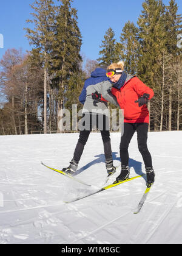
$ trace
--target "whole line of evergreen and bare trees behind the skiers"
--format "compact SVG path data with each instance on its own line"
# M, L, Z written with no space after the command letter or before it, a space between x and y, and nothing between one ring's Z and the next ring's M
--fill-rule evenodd
M98 65L124 60L125 71L155 91L148 103L150 130L181 130L181 15L175 0L144 0L137 24L128 21L120 41L109 27L98 60L83 67L82 37L72 0L35 0L26 36L32 51L8 49L0 61L0 134L62 132L62 110L79 104L84 80ZM178 46L177 46L178 45ZM112 108L112 105L110 105Z

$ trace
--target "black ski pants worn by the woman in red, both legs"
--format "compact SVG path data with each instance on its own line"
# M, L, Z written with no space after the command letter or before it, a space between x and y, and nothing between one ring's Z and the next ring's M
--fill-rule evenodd
M124 123L124 133L120 143L121 165L129 164L129 143L135 131L137 132L138 149L143 157L145 167L152 167L152 157L147 148L147 133L149 124L147 123Z

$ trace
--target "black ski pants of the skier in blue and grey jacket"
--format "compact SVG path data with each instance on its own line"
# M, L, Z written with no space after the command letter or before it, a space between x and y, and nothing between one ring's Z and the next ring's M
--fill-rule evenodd
M73 159L76 162L79 162L81 155L83 154L84 146L87 143L87 140L89 138L90 132L94 127L99 129L99 127L102 127L99 129L101 132L101 137L103 140L104 145L104 155L107 161L112 159L112 149L110 144L110 132L109 132L109 119L106 115L100 115L100 114L93 114L93 113L87 113L84 114L89 115L89 124L87 124L87 129L83 129L79 132L79 139L78 143L76 144L75 152L73 155ZM94 116L93 116L94 115ZM99 123L101 122L101 123ZM86 124L84 124L86 126Z

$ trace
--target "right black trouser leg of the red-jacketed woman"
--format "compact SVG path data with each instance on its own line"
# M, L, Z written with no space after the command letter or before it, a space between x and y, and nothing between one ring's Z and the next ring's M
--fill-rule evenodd
M147 148L148 128L149 124L147 123L136 124L138 149L143 157L145 167L152 168L152 157L150 155L149 149Z

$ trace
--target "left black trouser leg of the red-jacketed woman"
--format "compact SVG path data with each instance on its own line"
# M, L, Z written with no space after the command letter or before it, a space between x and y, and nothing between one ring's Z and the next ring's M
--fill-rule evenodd
M120 143L120 158L121 158L121 166L127 166L129 163L129 143L135 133L135 126L130 123L124 123L124 133L121 137Z

